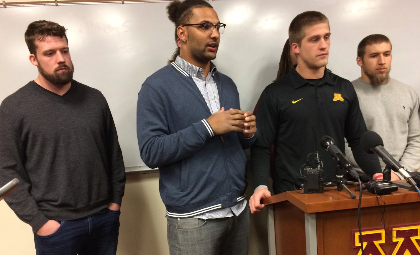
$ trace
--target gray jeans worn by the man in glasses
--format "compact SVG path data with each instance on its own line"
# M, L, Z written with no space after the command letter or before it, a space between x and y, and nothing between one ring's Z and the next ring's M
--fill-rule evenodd
M230 218L166 218L171 255L248 254L248 207L239 216Z

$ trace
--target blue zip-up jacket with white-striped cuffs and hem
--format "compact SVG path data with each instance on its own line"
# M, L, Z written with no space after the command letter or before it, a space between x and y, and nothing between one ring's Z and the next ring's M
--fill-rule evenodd
M215 71L220 106L239 109L236 85ZM144 81L137 101L140 155L159 168L159 191L168 216L186 218L235 205L245 198L243 149L256 138L240 132L215 135L211 112L197 85L176 63Z

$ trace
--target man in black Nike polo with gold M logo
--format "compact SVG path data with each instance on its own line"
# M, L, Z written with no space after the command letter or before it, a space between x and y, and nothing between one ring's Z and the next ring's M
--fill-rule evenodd
M331 136L342 151L346 137L362 170L370 176L381 173L378 157L363 152L360 147L360 137L367 129L352 84L325 68L330 34L328 18L316 11L299 14L289 26L289 41L297 66L268 85L259 100L260 136L251 148L255 187L249 200L252 213L261 211L264 205L260 200L271 195L267 185L273 144L276 194L302 184L299 170L313 160L315 155L309 154L317 150L323 161L324 181L334 179L336 161L320 147L324 135Z

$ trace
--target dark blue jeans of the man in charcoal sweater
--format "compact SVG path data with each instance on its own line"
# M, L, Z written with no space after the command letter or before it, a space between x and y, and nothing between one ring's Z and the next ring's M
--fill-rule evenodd
M53 234L34 233L37 255L115 255L120 211L101 210L91 216L61 221Z

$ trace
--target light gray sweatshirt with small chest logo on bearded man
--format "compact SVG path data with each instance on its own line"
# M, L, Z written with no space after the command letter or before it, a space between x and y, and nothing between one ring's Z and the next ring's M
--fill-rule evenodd
M419 97L408 85L389 79L372 86L360 78L352 81L367 129L378 133L383 147L409 171L420 168ZM346 156L359 168L346 146ZM385 163L380 160L382 168Z

